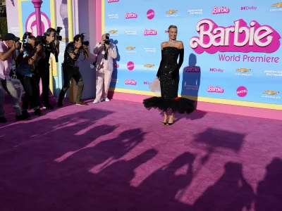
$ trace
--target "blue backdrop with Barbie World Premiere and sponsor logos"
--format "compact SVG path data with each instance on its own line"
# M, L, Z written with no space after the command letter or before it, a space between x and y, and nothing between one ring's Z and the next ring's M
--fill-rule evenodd
M282 105L282 2L105 0L104 7L104 31L118 48L112 88L149 91L161 42L177 25L185 46L179 94Z

